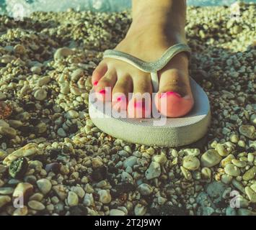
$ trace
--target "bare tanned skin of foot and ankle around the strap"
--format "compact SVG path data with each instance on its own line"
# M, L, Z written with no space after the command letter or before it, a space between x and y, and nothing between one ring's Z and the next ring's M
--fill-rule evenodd
M127 35L115 50L153 62L170 46L186 43L185 1L133 0L132 17ZM159 92L150 103L136 97L138 93L152 93L150 74L121 60L102 60L92 74L92 84L102 100L106 100L106 87L110 87L113 108L126 109L129 117L150 115L151 103L165 116L180 117L187 114L194 103L188 63L187 54L181 52L158 72ZM131 100L128 93L133 93Z

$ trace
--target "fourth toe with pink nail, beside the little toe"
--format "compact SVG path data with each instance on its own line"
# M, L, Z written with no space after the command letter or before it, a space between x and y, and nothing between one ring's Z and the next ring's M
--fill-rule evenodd
M100 78L97 86L94 86L97 97L102 101L111 101L112 88L115 86L117 75L115 69L107 70L107 73Z

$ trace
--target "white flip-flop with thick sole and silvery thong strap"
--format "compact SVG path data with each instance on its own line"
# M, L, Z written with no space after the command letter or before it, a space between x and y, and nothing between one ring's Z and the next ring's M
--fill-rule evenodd
M187 52L190 55L190 47L181 43L169 47L164 55L154 63L146 63L116 50L106 50L104 57L123 60L139 70L151 73L152 85L156 93L159 89L158 71L162 70L169 60L180 52ZM93 90L89 95L89 116L103 132L126 142L160 147L179 147L191 144L206 135L211 122L211 111L208 96L203 88L193 78L190 78L190 86L195 101L193 109L186 116L167 118L166 124L162 126L156 125L160 119L115 118L106 112L105 107L97 106L95 97L92 96Z

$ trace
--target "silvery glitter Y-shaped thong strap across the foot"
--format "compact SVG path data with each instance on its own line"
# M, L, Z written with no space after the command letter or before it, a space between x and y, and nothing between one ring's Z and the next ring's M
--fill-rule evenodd
M117 50L106 50L104 52L103 57L110 57L117 60L123 60L124 62L135 66L139 70L142 70L146 73L150 73L154 93L156 93L159 91L159 78L157 72L159 70L162 70L162 68L164 68L165 65L167 65L169 61L180 52L187 52L187 54L190 55L191 50L190 47L188 47L187 45L179 43L177 45L169 47L169 49L164 52L162 57L160 57L158 60L152 63L144 62L143 60L138 59L137 57L128 55L125 52L120 52Z

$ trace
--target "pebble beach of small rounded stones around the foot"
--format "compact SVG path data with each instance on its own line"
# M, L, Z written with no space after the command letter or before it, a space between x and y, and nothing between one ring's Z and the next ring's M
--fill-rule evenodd
M0 16L0 215L256 216L256 6L239 7L188 7L190 72L212 121L176 149L123 142L89 119L90 76L130 12Z

